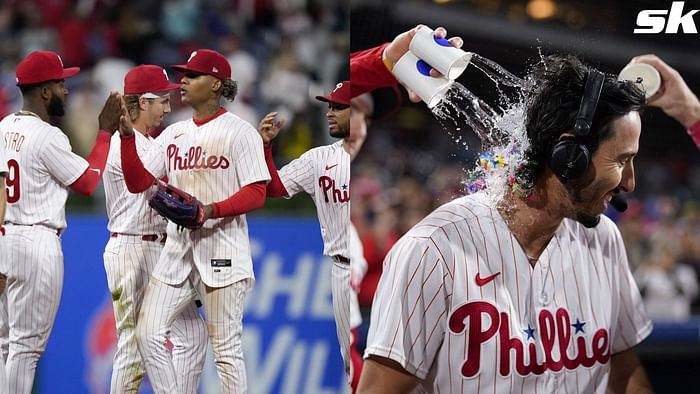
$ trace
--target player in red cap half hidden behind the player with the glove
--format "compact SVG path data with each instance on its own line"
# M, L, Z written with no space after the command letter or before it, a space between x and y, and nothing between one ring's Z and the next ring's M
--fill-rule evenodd
M148 132L170 112L170 91L175 89L180 89L180 84L171 83L166 71L155 65L137 66L124 77L124 101L139 155L158 151L158 144ZM136 345L136 322L146 285L165 243L167 221L148 206L150 190L133 194L126 189L118 135L112 137L104 187L111 234L104 264L118 336L111 392L136 393L145 375ZM196 393L208 336L194 303L173 321L170 340L177 384L182 392Z

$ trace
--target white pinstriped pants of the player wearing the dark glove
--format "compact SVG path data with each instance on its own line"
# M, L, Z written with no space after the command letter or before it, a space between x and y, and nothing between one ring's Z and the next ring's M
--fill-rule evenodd
M199 299L204 307L209 340L224 393L245 393L247 379L243 363L241 335L243 307L253 284L243 279L219 288L206 286L193 269L187 280L168 285L151 280L144 295L136 339L146 372L157 394L181 393L176 385L176 371L164 346L175 316Z

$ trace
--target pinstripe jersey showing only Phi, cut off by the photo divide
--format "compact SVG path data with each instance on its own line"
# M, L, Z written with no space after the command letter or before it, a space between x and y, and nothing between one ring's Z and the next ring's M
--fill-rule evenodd
M316 204L323 254L348 255L350 223L350 154L343 140L313 148L279 171L289 197L304 191Z

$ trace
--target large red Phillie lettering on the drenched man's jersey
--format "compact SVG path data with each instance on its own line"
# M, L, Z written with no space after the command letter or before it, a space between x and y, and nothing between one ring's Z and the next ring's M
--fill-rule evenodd
M488 319L484 319L488 317ZM508 376L511 373L511 360L515 361L515 370L521 376L541 375L545 371L574 370L579 366L591 367L596 362L605 364L610 360L608 331L598 329L591 338L575 335L584 332L586 323L576 319L571 324L569 312L559 308L554 314L543 309L539 312L538 327L523 330L528 335L527 343L520 337L510 335L508 313L500 312L488 302L474 301L466 303L452 312L449 317L449 330L453 334L463 334L468 330L467 359L462 364L461 373L465 378L472 378L481 370L481 346L496 337L498 341L499 373ZM576 332L572 338L571 328ZM534 343L535 332L538 335L544 360L537 359L537 345ZM533 341L529 339L533 338ZM573 344L575 351L569 351ZM513 358L513 352L515 353ZM556 356L558 355L558 356ZM557 357L557 358L555 358Z

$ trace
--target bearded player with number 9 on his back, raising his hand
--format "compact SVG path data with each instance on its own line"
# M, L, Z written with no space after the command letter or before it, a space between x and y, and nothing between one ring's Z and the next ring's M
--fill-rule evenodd
M10 393L32 391L36 364L56 317L63 287L60 235L66 228L68 190L92 194L119 125L120 96L112 93L85 160L71 151L68 137L48 123L49 116L63 115L65 79L79 70L64 69L55 52L30 53L16 70L22 110L0 122L9 169L0 250L0 272L7 274L7 291L0 297L0 345Z

